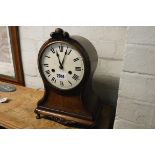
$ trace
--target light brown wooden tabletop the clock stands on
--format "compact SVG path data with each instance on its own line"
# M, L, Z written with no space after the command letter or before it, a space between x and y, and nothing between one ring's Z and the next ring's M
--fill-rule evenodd
M0 82L2 83L2 82ZM0 92L0 98L7 97L7 103L0 103L0 126L15 129L67 129L70 127L61 125L47 119L36 119L34 109L37 101L43 96L43 91L16 86L15 92ZM105 108L104 108L105 109ZM103 125L101 128L109 128L111 109L103 112Z

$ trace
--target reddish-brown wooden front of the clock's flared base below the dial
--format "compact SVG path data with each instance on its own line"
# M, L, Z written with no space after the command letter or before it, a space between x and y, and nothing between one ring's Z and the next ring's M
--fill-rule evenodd
M82 103L80 95L62 96L50 92L44 102L41 102L36 112L49 116L64 125L93 127L95 122L91 113L87 111Z

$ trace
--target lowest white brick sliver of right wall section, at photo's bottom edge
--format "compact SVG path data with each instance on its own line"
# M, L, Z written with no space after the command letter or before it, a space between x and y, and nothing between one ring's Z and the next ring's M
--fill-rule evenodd
M144 129L145 127L130 121L118 119L118 120L115 120L114 122L114 128L115 129Z

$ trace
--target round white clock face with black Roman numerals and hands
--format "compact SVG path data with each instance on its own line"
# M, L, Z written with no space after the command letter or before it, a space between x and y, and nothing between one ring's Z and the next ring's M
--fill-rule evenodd
M85 68L81 54L73 46L55 42L44 50L41 69L52 86L69 90L80 84Z

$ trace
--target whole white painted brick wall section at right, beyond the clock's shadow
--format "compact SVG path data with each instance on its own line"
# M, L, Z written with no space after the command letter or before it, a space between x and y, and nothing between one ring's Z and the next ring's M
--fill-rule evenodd
M128 27L114 128L155 128L155 27Z

